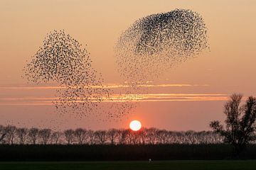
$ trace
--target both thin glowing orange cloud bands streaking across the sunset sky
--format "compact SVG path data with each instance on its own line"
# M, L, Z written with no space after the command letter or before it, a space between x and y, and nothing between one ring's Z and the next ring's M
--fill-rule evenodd
M166 87L195 87L195 86L210 86L208 84L151 84L151 82L139 85L146 88L166 88ZM78 88L77 86L71 86ZM127 84L105 84L104 86L93 86L94 88L110 88L122 89L131 86ZM48 90L48 89L65 89L65 86L0 86L0 90ZM16 92L15 92L16 93ZM82 102L82 98L67 98L70 102ZM226 101L227 94L169 94L169 93L156 93L156 94L112 94L109 97L102 97L103 102L159 102L159 101ZM53 101L58 101L58 97L53 96L22 96L22 97L0 97L0 105L53 105ZM97 98L90 98L90 101L96 101Z

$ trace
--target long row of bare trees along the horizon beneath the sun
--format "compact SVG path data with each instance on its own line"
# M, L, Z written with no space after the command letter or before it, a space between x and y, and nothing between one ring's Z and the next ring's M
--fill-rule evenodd
M5 145L167 145L218 144L224 140L213 131L184 132L142 128L86 130L77 128L54 131L48 128L16 128L0 125L0 144Z

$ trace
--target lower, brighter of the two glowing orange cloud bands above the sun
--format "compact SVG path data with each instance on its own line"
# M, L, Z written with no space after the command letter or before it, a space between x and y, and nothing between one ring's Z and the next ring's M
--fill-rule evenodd
M227 94L113 94L108 98L102 98L103 102L157 102L157 101L226 101ZM95 101L96 98L90 98ZM58 101L56 97L21 97L0 98L0 105L53 105ZM82 102L76 98L72 102Z

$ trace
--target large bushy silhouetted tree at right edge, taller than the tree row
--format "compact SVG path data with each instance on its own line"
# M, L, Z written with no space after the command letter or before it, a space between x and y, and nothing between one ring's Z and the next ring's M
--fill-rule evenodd
M234 147L234 156L238 156L247 143L255 140L256 98L250 96L244 105L240 106L242 95L233 94L225 103L225 128L220 121L210 123L210 128L220 133L225 142Z

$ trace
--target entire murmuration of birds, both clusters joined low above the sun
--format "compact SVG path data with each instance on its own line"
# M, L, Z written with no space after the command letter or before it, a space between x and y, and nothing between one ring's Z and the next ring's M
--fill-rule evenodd
M76 113L79 118L107 113L107 118L118 120L136 107L136 98L146 93L142 88L146 81L158 79L166 69L207 47L203 18L191 10L176 9L140 18L120 35L114 52L118 71L128 85L120 94L104 86L101 74L92 67L90 53L64 30L46 36L24 73L33 83L53 81L62 87L53 101L58 113ZM103 107L102 102L113 100L113 95L122 102Z

